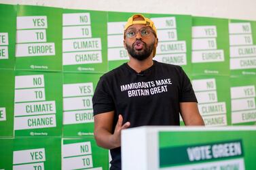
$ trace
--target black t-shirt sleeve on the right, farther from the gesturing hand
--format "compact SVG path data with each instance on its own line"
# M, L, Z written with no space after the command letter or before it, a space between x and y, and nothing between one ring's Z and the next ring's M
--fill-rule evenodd
M179 95L179 102L198 102L189 77L187 77L185 71L182 68L180 76L181 94Z

